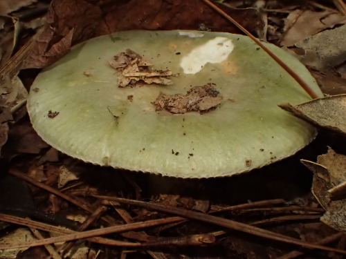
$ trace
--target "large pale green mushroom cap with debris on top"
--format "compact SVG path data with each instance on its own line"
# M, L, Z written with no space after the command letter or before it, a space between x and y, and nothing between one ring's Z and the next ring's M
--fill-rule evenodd
M322 96L298 60L266 44ZM172 84L118 87L109 60L131 49L171 70ZM161 94L212 84L208 111L156 111ZM28 97L35 131L57 150L101 166L178 178L234 175L293 155L316 136L277 104L311 98L246 36L224 32L124 31L90 39L42 71Z

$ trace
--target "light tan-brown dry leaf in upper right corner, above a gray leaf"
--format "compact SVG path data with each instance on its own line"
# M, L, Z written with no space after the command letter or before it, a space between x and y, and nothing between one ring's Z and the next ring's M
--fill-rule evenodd
M340 12L325 10L313 12L311 10L293 10L286 18L284 30L286 33L281 41L282 46L293 46L302 39L315 35L336 24L346 23L346 17Z

